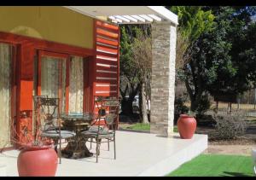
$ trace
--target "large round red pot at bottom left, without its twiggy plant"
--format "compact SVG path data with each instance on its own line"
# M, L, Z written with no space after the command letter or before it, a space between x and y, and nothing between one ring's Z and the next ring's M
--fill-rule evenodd
M54 177L58 157L49 146L28 146L20 151L17 165L20 177Z

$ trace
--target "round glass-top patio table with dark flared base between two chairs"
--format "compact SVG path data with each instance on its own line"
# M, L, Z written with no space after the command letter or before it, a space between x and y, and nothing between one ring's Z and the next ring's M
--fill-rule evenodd
M68 141L67 147L61 150L61 154L64 157L79 159L93 155L85 145L87 139L84 139L80 134L81 131L88 130L92 117L91 113L72 113L61 115L63 129L67 131L74 131L76 133L76 136L71 141Z

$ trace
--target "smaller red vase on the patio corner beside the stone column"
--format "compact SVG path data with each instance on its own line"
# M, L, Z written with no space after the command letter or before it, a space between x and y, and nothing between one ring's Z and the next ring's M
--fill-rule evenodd
M177 119L177 130L183 139L191 139L195 133L196 120L187 114L181 114Z

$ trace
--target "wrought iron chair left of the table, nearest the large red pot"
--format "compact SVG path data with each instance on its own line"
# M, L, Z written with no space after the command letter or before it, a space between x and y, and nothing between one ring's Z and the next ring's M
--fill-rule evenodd
M37 118L37 136L41 140L53 140L55 152L59 155L61 164L61 139L72 139L76 136L73 131L65 131L61 127L59 98L48 98L47 96L33 96L35 115ZM38 137L36 137L38 139ZM57 145L59 142L59 151Z

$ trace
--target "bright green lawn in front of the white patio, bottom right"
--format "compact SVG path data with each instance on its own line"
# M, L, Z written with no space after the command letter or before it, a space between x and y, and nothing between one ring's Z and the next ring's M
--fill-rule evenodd
M253 177L250 156L201 154L172 171L168 177Z

